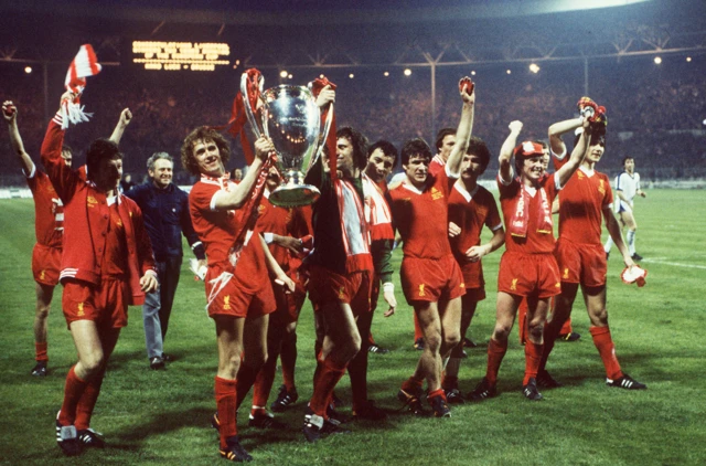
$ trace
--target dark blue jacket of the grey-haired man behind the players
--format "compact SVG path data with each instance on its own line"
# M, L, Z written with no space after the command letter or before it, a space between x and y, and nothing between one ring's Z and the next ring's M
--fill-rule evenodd
M186 236L196 258L206 258L203 245L191 224L189 194L174 183L165 189L157 188L152 181L131 188L125 193L142 210L145 227L152 241L154 260L182 256L181 234Z

